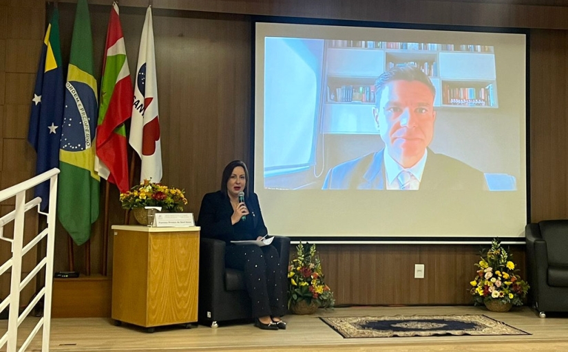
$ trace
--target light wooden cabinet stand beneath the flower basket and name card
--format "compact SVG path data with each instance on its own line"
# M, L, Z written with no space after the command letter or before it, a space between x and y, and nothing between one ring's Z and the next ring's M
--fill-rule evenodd
M113 225L112 313L154 332L197 322L199 230Z

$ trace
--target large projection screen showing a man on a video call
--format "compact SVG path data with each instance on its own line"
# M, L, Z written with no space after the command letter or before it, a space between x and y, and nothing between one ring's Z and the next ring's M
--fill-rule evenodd
M257 22L253 60L271 234L523 241L525 34Z

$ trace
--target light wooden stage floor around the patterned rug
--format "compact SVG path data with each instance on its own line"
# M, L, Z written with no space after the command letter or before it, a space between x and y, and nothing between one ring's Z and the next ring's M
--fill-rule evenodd
M485 314L532 335L345 339L317 318L397 314ZM507 313L492 313L485 307L350 307L320 309L313 316L286 316L285 320L288 329L279 331L244 324L218 329L160 327L146 333L132 325L115 327L105 318L59 318L52 319L50 351L568 351L568 315L540 319L527 307ZM26 319L19 333L30 331L36 321ZM0 333L6 326L2 320ZM41 351L41 333L28 351Z

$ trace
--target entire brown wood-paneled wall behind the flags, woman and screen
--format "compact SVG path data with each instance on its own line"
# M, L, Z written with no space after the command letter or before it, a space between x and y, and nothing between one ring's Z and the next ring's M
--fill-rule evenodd
M20 38L32 35L29 26L36 22L19 19L13 23L16 29L10 29L6 24L9 21L5 12L16 7L17 2L0 0L3 10L0 11L0 44L8 41L8 36L10 39L14 36L14 39L41 41L43 28L32 31L34 38ZM60 1L64 61L67 61L69 52L74 2ZM112 1L89 2L92 4L96 72L101 72ZM43 15L43 1L23 3L28 7L22 10L20 7L23 5L18 5L19 9L11 11L23 12L24 17ZM136 67L147 3L145 0L120 1L131 72ZM218 189L220 174L227 162L235 158L251 162L252 43L249 15L264 14L532 28L529 43L532 219L568 217L565 200L568 197L568 164L565 162L568 156L565 138L568 130L568 34L565 31L568 29L568 7L562 6L560 1L154 0L153 4L164 153L163 181L187 190L187 210L197 213L202 195ZM45 23L43 19L41 21ZM6 31L2 30L4 27ZM36 57L29 58L28 76L16 79L12 76L14 69L8 69L8 63L16 63L11 58L8 60L8 44L0 46L6 47L4 51L0 48L1 165L13 167L17 164L14 155L28 155L27 159L34 157L25 144L25 131ZM23 47L21 50L24 50ZM27 62L28 56L18 60L17 64L25 65ZM6 75L10 75L9 84ZM18 87L19 92L14 91L14 87ZM8 97L10 104L6 100ZM12 126L10 121L21 121L26 126ZM14 135L8 138L6 131ZM27 162L19 163L21 175L29 172ZM3 171L0 170L0 175L5 187L12 181L5 181ZM13 175L10 173L8 177L13 179L16 177ZM113 192L116 199L117 192ZM111 223L120 223L118 201L112 202L112 209ZM100 232L98 221L93 237L95 260L101 248ZM112 243L109 250L112 251ZM473 264L478 259L479 247L476 245L320 245L319 250L328 284L335 291L338 304L441 305L471 302L467 289L475 270ZM512 250L518 266L523 268L523 247ZM58 231L56 251L56 270L65 270L67 249L62 230ZM413 278L414 263L425 264L424 279ZM81 269L81 266L78 268ZM99 268L100 263L95 261L93 271Z

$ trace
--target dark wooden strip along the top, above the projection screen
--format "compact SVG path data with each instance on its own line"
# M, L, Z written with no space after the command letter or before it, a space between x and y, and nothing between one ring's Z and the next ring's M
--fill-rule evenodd
M76 0L61 0L74 3ZM109 5L109 0L90 0ZM562 0L153 0L156 9L255 14L313 19L483 25L514 28L568 28L568 5ZM120 5L146 7L147 0Z

